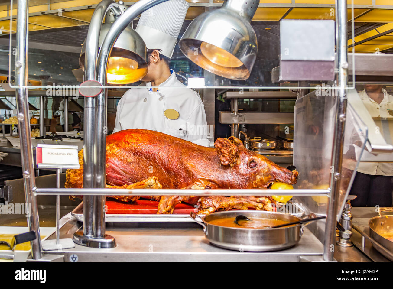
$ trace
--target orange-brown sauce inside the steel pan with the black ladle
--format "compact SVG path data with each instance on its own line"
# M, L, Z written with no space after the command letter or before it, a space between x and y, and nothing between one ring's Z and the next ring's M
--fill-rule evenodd
M235 217L230 218L222 218L215 219L209 221L211 225L223 226L223 227L231 227L231 228L266 228L270 226L277 226L285 223L289 223L287 221L277 220L277 219L269 219L269 218L260 218L260 217L250 217L250 221L240 220L235 223Z

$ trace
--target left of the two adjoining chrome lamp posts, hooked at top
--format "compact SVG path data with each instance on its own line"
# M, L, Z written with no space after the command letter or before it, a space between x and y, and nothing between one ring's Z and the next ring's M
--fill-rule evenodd
M84 58L84 80L95 80L96 75L96 64L97 64L97 53L99 45L99 35L101 32L101 25L104 20L105 14L109 9L112 9L115 15L120 15L121 10L118 5L112 0L103 0L99 2L97 7L94 9L92 19L90 20L90 25L85 41L86 52ZM96 124L96 99L92 97L84 98L84 144L83 144L83 187L84 188L97 188L95 185L95 174L94 168L96 166L95 155L97 148L94 146L95 138L95 126ZM98 199L98 201L97 201ZM94 209L95 206L100 206L99 203L104 201L103 196L86 196L83 199L83 231L82 235L80 232L74 234L74 241L81 245L87 245L89 237L103 237L105 235L105 219L104 223L101 225L102 221L99 221L101 230L95 232L94 230L94 218L102 217L96 216L94 214L98 211L103 211L103 207L100 210ZM98 203L98 204L97 204ZM104 205L103 204L103 205ZM105 217L105 215L104 215ZM103 229L102 229L103 228ZM99 242L98 242L99 243Z

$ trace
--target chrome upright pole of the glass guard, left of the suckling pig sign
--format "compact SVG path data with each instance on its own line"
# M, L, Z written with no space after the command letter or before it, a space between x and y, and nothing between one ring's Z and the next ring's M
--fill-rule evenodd
M31 212L28 213L28 226L30 231L36 234L35 240L31 241L31 257L40 259L42 248L40 241L40 226L38 219L37 199L33 194L35 188L33 150L30 138L29 102L27 91L27 51L28 51L28 1L18 1L17 15L17 54L15 58L15 78L17 83L16 99L20 138L20 157L22 159L23 182L26 203L31 204Z

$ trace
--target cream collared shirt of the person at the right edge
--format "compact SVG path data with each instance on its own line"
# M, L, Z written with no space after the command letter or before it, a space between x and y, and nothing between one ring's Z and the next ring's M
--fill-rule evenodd
M359 96L371 117L393 118L388 113L389 110L393 110L393 96L384 89L382 91L384 99L380 104L369 98L365 90L359 92ZM360 162L357 171L368 175L393 176L393 162Z

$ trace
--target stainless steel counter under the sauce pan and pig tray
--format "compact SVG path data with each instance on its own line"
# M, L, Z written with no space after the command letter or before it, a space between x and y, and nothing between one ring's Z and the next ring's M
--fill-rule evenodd
M61 238L72 237L81 223L71 218L60 230ZM117 247L94 249L75 245L73 249L50 252L64 255L70 261L77 255L78 261L285 261L298 262L308 258L320 258L323 246L305 229L298 245L275 252L239 252L211 245L202 227L194 223L140 223L107 225L107 234L116 238ZM50 236L49 239L54 239ZM75 256L74 256L75 257Z

